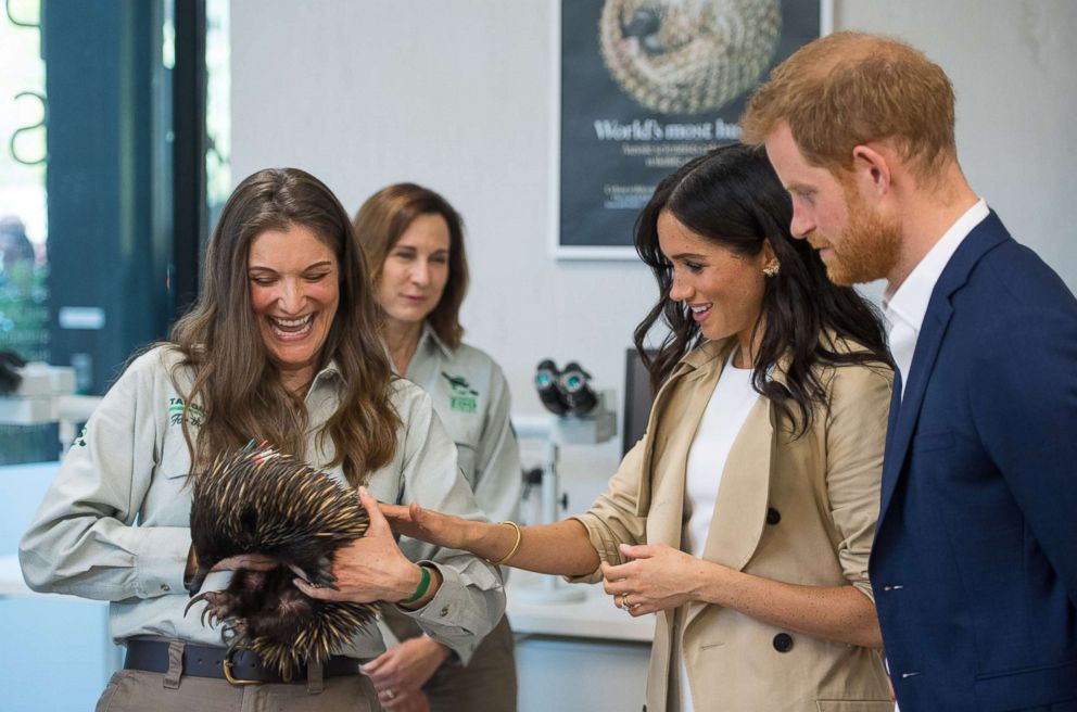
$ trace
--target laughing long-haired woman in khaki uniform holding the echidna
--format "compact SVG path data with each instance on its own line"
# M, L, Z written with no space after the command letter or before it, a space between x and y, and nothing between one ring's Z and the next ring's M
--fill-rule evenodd
M369 490L367 535L334 557L338 588L297 583L304 593L382 601L464 660L501 618L493 567L397 546L377 514L375 498L479 510L429 396L392 376L347 214L313 176L263 170L225 205L198 304L104 396L20 546L34 589L112 601L127 656L98 710L381 709L359 671L385 649L376 628L288 683L250 650L229 659L199 609L185 615L190 478L251 438ZM218 575L207 586L227 585L230 573Z

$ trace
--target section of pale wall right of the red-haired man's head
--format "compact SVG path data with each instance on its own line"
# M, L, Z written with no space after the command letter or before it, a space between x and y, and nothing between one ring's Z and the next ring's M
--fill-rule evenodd
M966 177L1077 289L1077 2L838 0L835 26L903 38L946 69Z

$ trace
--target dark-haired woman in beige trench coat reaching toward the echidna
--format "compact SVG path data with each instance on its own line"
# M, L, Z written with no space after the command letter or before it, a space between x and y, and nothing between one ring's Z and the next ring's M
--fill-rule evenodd
M890 360L877 313L828 282L790 214L742 145L659 185L636 249L660 298L636 345L664 319L660 389L587 512L521 531L384 508L401 531L657 612L652 712L892 709L867 580Z

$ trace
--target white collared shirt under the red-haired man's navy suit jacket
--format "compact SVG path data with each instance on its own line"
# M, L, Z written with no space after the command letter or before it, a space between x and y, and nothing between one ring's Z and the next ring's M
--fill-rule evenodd
M924 315L927 314L927 304L932 301L935 284L962 241L988 216L989 212L983 199L977 201L950 226L930 252L913 268L905 281L901 282L897 291L888 288L883 295L883 316L887 321L890 353L901 373L901 395L904 395L912 356L916 351L916 339L920 336L920 328L924 323Z

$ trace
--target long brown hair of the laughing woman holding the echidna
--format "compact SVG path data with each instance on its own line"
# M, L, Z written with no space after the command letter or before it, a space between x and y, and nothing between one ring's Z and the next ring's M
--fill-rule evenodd
M396 450L401 420L391 403L392 369L347 213L325 183L297 168L259 170L236 188L210 239L199 300L173 329L183 365L194 369L190 393L181 392L191 471L252 437L304 456L306 409L268 357L248 279L254 239L293 225L312 230L340 264L340 301L318 365L335 364L340 404L318 432L318 444L324 447L329 437L330 467L342 466L347 481L358 484ZM202 411L197 445L188 427L192 407Z

